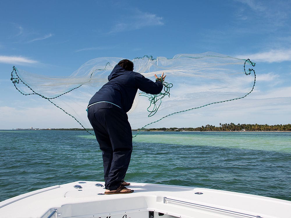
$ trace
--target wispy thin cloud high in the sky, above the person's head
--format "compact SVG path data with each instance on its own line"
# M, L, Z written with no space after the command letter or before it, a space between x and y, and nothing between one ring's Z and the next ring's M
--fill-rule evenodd
M115 24L109 33L123 32L125 30L136 30L146 26L161 26L163 18L148 12L142 12L138 9L134 10L131 17L127 17L126 22Z

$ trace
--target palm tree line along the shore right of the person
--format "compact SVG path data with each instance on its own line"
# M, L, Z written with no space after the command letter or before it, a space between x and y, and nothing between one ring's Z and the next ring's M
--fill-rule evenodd
M139 131L140 129L133 129L133 131ZM219 124L219 126L205 125L201 127L171 127L171 128L147 128L143 131L291 131L291 124Z

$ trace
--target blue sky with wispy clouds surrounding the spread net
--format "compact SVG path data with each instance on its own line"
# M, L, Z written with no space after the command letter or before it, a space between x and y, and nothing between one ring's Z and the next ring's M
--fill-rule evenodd
M15 90L14 65L69 76L97 57L172 58L207 51L250 58L258 79L248 99L205 110L192 127L288 124L290 9L291 1L268 0L2 1L0 129L78 127L57 108Z

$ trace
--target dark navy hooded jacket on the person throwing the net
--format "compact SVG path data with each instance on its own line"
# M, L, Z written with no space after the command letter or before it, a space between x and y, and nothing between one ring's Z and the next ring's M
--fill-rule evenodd
M95 93L89 101L89 105L107 101L128 112L138 89L148 94L159 94L163 89L163 84L159 81L153 82L140 73L127 71L116 65L108 76L108 82Z

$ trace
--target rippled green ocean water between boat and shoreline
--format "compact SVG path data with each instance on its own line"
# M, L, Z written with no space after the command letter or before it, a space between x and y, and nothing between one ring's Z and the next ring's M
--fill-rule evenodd
M0 201L52 185L104 181L101 151L85 131L3 130L0 143ZM133 147L127 182L291 201L291 132L143 132Z

